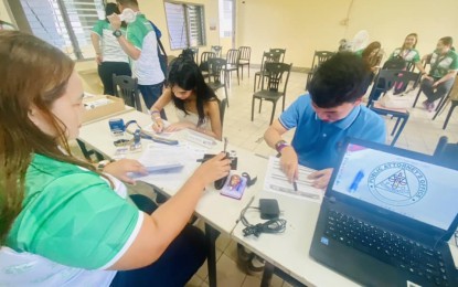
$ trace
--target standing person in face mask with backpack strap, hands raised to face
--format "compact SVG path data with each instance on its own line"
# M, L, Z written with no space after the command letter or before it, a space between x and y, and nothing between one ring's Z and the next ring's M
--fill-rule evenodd
M125 10L135 14L135 19L131 21L126 19L126 36L119 30L121 19L118 14L108 17L108 20L120 46L132 60L134 77L138 78L138 88L143 96L145 105L150 109L162 94L164 81L159 61L156 31L152 23L140 12L137 0L117 0L116 2L123 14L125 14ZM161 110L161 117L167 119L163 110Z

